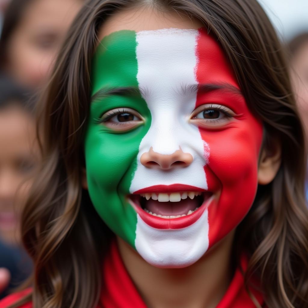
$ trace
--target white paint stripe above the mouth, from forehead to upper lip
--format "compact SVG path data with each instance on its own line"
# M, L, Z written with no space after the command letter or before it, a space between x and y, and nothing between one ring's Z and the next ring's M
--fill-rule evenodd
M209 151L205 151L208 145L198 128L188 123L197 94L181 93L184 86L197 84L197 36L197 30L179 29L137 33L137 80L151 111L152 123L140 143L131 193L152 185L175 183L207 189L203 166L209 157ZM160 154L172 154L181 148L193 156L193 163L168 172L148 169L140 163L140 157L151 147Z

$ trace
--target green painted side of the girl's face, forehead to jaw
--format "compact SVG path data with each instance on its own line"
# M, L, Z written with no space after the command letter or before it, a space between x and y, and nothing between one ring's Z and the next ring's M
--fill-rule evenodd
M138 89L136 33L122 30L106 36L92 61L92 95L100 90L134 87ZM144 124L126 132L116 132L98 123L114 108L131 108ZM88 190L93 205L109 228L135 247L137 216L126 201L136 170L139 145L151 125L151 114L140 93L105 95L92 101L85 136Z

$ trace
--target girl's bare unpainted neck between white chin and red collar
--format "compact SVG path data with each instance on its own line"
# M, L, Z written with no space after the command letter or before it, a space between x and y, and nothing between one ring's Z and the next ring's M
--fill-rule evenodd
M193 265L160 269L147 263L119 237L120 255L147 307L216 307L232 278L234 232L212 247Z

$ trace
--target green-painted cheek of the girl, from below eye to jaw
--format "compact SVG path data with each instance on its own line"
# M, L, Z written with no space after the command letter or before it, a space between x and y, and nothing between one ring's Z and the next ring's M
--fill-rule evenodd
M110 134L90 129L85 139L88 191L91 201L108 227L132 247L136 234L136 212L127 203L140 130Z

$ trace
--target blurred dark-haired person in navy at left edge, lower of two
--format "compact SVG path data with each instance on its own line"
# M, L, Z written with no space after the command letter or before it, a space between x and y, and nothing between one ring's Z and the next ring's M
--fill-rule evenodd
M31 172L38 162L38 145L34 105L25 89L0 76L0 93L0 268L5 268L0 270L2 298L32 269L20 245L19 216L31 185Z

